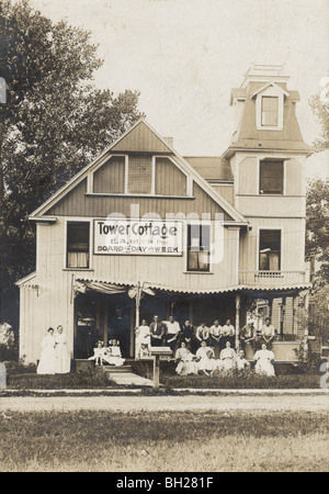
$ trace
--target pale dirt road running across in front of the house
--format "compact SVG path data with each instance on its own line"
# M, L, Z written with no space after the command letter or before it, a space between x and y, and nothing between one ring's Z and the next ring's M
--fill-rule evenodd
M281 396L2 396L0 413L7 411L307 411L328 412L329 394Z

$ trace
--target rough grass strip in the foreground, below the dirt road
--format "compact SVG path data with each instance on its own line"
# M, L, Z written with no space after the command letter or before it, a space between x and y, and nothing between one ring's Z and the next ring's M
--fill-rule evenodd
M329 469L329 413L7 412L0 429L2 472Z

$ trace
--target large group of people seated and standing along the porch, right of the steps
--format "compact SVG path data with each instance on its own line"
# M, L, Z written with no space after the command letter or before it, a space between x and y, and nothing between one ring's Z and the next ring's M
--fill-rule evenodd
M189 321L180 327L173 316L161 322L155 316L149 326L143 319L136 328L136 356L147 357L151 353L151 347L169 346L178 362L179 374L213 375L214 372L234 368L249 368L250 363L245 358L246 344L249 341L254 350L256 371L274 375L274 353L271 350L274 338L275 329L269 317L260 333L250 323L243 326L237 338L230 319L226 319L224 326L216 319L211 327L202 322L194 329Z

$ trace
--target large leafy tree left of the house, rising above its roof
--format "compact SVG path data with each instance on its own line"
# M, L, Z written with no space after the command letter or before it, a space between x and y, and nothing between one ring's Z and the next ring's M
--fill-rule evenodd
M102 60L89 32L2 0L0 33L1 319L15 324L14 281L34 269L29 214L141 114L137 91L93 86Z

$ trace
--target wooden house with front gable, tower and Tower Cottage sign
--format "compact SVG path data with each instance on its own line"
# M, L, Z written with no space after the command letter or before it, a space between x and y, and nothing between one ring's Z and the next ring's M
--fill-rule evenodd
M21 291L20 352L39 358L49 326L63 325L72 359L122 327L157 314L207 325L246 324L250 302L270 314L276 360L304 338L305 166L310 147L298 92L281 67L253 66L230 103L236 130L218 157L182 157L140 120L50 197L36 223L36 271ZM218 123L219 124L219 123Z

